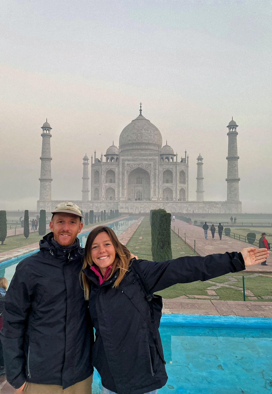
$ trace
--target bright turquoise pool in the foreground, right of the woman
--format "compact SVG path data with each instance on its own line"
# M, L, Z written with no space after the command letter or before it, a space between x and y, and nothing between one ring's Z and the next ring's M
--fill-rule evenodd
M169 378L159 394L272 392L272 319L226 316L222 324L220 316L168 318L162 318L160 335ZM186 319L189 322L185 326L172 325L175 320L183 324L181 320ZM192 320L194 325L190 326ZM199 327L209 320L212 327ZM95 371L93 394L101 392Z

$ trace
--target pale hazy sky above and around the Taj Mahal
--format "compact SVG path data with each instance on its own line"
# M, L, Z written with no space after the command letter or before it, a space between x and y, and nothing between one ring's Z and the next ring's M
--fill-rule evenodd
M143 115L203 156L204 199L227 195L227 124L239 125L243 212L271 207L271 1L13 1L0 13L0 209L36 209L41 126L52 199L81 199L82 158Z

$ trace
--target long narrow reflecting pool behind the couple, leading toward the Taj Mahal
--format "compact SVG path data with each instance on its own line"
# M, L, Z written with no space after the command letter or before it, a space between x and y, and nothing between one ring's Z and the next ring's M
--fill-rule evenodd
M110 227L112 230L114 230L114 232L118 236L118 235L122 234L122 232L124 232L129 226L131 226L132 223L134 223L137 219L139 219L139 217L129 216L129 217L126 217L125 219L120 219L114 223L107 223L105 225ZM97 224L103 225L103 222L100 222ZM82 247L84 247L86 244L86 240L87 240L89 232L90 231L83 232L82 234L78 234L78 238L80 240L80 245ZM38 251L38 249L37 249L37 251ZM0 277L5 277L5 278L7 278L7 281L10 282L14 273L15 273L15 268L16 268L17 264L21 260L26 258L27 256L37 253L37 251L30 252L30 253L27 253L26 255L19 256L19 258L12 258L11 260L7 260L7 261L0 263Z

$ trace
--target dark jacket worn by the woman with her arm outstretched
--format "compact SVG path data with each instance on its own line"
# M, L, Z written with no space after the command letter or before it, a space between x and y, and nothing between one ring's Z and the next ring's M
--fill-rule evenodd
M176 283L206 281L245 269L237 252L137 262L152 293ZM95 327L92 363L102 385L117 394L143 394L164 386L168 376L158 331L161 307L156 304L156 322L151 323L149 303L131 269L118 288L112 287L117 272L102 285L90 267L84 273L89 279L89 312Z

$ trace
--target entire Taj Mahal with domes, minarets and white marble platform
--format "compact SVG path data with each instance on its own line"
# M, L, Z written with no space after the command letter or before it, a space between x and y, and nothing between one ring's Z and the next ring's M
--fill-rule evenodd
M104 157L103 154L97 157L94 152L90 163L87 154L84 156L82 199L73 202L83 212L119 209L122 213L140 214L165 208L171 213L238 214L242 212L242 203L239 201L237 127L233 119L227 125L226 201L204 200L203 157L200 154L196 158L196 201L188 200L189 156L186 151L184 156L178 156L167 141L162 146L160 130L142 115L140 103L140 114L121 131L118 147L112 143ZM52 128L46 121L41 129L41 176L37 210L51 212L61 201L51 199ZM70 201L69 196L67 201Z

